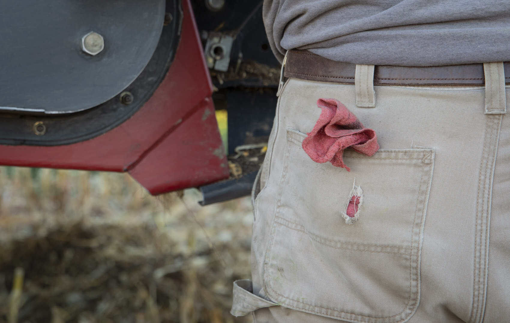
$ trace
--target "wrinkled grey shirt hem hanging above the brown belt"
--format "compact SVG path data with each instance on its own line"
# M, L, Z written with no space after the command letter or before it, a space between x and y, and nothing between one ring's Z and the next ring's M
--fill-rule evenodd
M271 48L356 64L510 61L510 0L264 0Z

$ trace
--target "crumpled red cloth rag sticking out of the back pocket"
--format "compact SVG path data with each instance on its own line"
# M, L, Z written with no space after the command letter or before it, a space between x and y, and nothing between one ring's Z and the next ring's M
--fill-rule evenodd
M319 120L302 143L304 151L314 162L331 162L333 166L350 171L343 162L347 147L367 156L372 156L379 149L375 131L365 128L342 102L319 99L317 106L322 110Z

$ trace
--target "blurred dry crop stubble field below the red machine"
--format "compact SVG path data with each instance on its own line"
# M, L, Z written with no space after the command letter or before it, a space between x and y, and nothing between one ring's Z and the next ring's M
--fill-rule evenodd
M0 167L0 322L250 322L249 198L148 195L129 175Z

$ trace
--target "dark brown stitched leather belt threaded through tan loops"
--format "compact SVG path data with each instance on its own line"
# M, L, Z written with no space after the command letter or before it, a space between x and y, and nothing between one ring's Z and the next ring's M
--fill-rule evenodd
M354 84L356 65L331 61L308 50L292 49L285 62L286 77ZM510 62L504 63L510 83ZM431 67L376 65L374 85L484 85L483 64Z

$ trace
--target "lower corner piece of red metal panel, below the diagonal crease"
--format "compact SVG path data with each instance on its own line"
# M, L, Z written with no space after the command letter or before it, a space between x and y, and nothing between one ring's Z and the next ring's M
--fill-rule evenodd
M214 105L205 99L130 174L154 195L224 179L228 164L217 133Z

